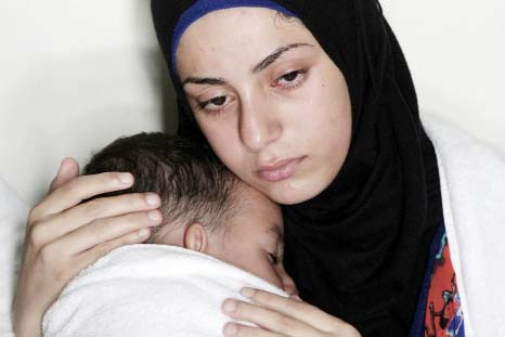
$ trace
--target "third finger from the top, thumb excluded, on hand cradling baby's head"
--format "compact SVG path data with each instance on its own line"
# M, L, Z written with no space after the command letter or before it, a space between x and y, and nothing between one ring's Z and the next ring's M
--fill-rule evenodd
M61 251L78 255L139 229L148 231L148 228L156 226L160 222L159 210L99 219L64 235L54 243L54 246Z

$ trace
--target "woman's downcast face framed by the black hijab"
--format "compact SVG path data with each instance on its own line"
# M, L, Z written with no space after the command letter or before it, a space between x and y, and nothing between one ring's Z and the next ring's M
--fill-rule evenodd
M351 138L349 92L299 22L260 8L212 12L182 36L177 69L203 133L243 181L290 205L335 179Z

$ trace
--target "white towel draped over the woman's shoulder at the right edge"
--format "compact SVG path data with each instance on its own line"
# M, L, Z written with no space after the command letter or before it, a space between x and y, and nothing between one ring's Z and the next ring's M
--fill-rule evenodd
M435 116L423 125L433 143L444 224L458 280L467 336L504 336L505 155Z

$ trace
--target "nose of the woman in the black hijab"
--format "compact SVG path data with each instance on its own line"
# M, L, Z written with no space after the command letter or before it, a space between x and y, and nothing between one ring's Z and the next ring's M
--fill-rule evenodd
M239 116L242 142L252 152L260 152L277 140L283 128L275 109L264 101L243 102Z

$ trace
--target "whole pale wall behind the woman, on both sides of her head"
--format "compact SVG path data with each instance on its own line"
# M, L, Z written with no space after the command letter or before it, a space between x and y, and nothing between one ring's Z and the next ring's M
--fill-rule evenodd
M423 111L505 150L505 1L381 2ZM0 2L0 178L27 203L63 157L85 163L119 135L174 129L148 5Z

